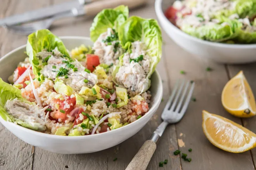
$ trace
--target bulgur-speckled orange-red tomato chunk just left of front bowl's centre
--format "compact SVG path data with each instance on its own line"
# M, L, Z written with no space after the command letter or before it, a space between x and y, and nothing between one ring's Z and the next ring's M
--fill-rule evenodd
M73 97L72 99L67 96L68 99L66 100L67 104L69 104L69 108L65 108L64 109L64 100L60 100L60 99L55 99L54 102L56 104L59 104L59 110L57 111L57 113L55 114L55 119L61 119L62 121L65 121L67 114L69 114L73 109L74 109L74 105L76 105L76 98ZM65 113L62 113L60 110L64 110Z

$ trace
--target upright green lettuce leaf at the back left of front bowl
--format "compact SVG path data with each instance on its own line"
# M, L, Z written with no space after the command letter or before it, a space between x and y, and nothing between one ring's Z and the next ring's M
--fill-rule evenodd
M38 73L43 67L42 60L36 57L36 54L44 49L47 49L47 51L54 50L56 47L63 56L65 55L67 59L71 60L61 39L52 34L48 29L38 30L28 36L26 51L36 77L39 76Z

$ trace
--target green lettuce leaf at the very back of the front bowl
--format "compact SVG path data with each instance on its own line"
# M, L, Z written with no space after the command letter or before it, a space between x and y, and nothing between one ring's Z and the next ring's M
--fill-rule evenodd
M128 15L128 7L124 5L99 12L93 19L92 27L90 28L91 40L95 42L100 34L106 32L108 28L118 30L119 26L128 18Z

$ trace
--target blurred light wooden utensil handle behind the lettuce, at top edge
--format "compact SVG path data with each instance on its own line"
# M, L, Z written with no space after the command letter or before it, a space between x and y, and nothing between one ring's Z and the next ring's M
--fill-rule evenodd
M147 0L99 0L85 5L86 15L97 15L105 8L114 8L118 5L126 5L129 8L134 8L144 4Z

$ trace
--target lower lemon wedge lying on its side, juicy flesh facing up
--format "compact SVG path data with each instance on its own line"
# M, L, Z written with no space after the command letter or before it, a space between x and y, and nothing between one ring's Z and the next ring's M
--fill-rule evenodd
M216 147L241 153L256 147L256 134L225 117L202 111L202 129L206 138Z

